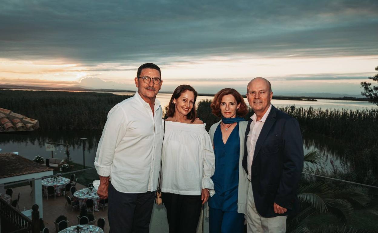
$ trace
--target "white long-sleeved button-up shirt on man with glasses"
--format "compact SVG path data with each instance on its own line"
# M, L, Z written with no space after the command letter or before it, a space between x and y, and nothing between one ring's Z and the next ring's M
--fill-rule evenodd
M155 100L152 114L138 92L109 111L95 168L100 176L110 176L117 191L145 193L157 189L164 135L162 116L160 102Z

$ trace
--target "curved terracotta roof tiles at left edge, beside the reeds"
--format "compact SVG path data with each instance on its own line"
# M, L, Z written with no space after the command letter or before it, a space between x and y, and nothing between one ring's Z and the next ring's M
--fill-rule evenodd
M38 128L38 120L0 108L0 132L31 131Z

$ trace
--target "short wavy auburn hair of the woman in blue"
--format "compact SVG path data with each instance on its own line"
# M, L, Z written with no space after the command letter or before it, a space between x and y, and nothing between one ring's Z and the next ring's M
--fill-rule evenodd
M247 105L244 102L243 96L237 92L234 88L224 88L218 91L215 94L213 101L211 102L211 110L212 113L217 117L222 117L222 113L220 112L220 103L222 102L223 96L232 95L234 96L236 103L240 103L240 107L236 110L236 115L240 117L244 117L248 113Z

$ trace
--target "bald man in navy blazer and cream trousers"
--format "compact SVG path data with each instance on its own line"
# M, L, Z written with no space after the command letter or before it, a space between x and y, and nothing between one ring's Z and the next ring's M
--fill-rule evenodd
M286 231L287 215L298 208L296 190L303 167L303 142L296 119L271 105L268 80L257 77L247 86L254 110L245 134L242 165L248 187L247 232Z

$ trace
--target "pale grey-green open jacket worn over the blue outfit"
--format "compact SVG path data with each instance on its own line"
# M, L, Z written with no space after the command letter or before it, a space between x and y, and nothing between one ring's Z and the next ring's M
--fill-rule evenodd
M218 125L222 120L215 123L210 127L209 134L211 138L211 143L214 146L214 133ZM239 155L239 190L237 194L237 211L238 213L246 213L247 209L247 188L248 188L248 178L247 173L243 169L242 160L244 156L244 137L245 131L247 129L248 121L239 122L239 138L240 138L240 155ZM215 158L216 159L216 158ZM217 167L215 167L217 169Z

